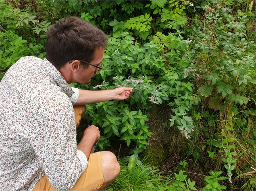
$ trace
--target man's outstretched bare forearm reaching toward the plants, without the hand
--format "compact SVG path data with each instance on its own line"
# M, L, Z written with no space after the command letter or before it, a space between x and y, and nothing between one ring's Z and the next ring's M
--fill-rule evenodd
M113 99L114 93L112 89L97 91L79 89L79 97L75 106L94 104L97 102L104 102Z

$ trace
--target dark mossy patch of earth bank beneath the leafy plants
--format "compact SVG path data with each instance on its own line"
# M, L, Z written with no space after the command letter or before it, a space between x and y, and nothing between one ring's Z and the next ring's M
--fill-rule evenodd
M148 125L152 136L148 139L148 148L140 154L150 165L162 165L166 158L174 154L187 156L186 140L175 126L169 126L170 113L169 106L153 105L150 109Z

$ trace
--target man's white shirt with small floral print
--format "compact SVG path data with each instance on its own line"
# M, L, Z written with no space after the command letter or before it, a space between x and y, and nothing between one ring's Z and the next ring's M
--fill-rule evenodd
M71 88L47 59L23 57L0 82L0 188L33 190L44 175L71 189L87 167L77 150Z

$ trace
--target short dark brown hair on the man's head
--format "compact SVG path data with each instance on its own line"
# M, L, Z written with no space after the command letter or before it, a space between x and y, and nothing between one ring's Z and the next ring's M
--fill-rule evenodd
M102 30L78 17L65 17L48 30L46 59L57 69L72 60L90 62L95 49L104 48L106 44L107 36Z

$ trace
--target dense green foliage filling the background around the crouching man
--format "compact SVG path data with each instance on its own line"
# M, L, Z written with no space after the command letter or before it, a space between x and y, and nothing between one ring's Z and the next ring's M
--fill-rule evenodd
M87 106L87 121L101 129L101 150L119 138L139 163L152 134L148 111L168 105L168 128L188 139L184 154L208 156L215 171L205 190L255 189L254 1L0 0L0 10L1 78L20 57L44 58L47 28L64 16L78 16L109 36L103 70L88 85L72 84L134 88L128 100ZM218 183L224 183L221 171L227 187ZM176 181L184 176L181 171ZM190 185L182 189L194 190Z

